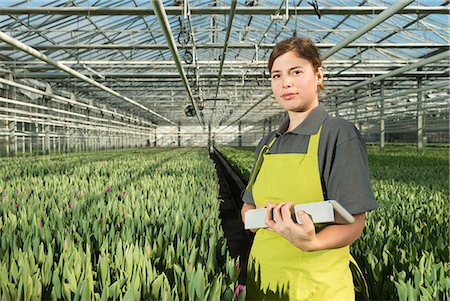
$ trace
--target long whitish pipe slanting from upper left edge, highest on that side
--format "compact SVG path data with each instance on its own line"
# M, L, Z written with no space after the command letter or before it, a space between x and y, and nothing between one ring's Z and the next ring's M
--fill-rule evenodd
M81 79L84 82L87 82L87 83L89 83L89 84L91 84L93 86L96 86L97 88L100 88L101 90L103 90L103 91L105 91L105 92L107 92L107 93L109 93L109 94L111 94L113 96L116 96L116 97L118 97L120 99L123 99L126 102L129 102L129 103L131 103L131 104L133 104L133 105L143 109L144 111L147 111L147 112L149 112L149 113L151 113L151 114L153 114L153 115L155 115L155 116L157 116L157 117L159 117L159 118L161 118L161 119L163 119L163 120L165 120L165 121L167 121L167 122L169 122L171 124L176 125L176 123L174 123L170 119L162 116L161 114L159 114L159 113L157 113L157 112L155 112L153 110L150 110L147 107L143 106L142 104L134 101L133 99L128 98L128 97L126 97L126 96L124 96L124 95L114 91L113 89L110 89L110 88L100 84L99 82L97 82L97 81L87 77L86 75L83 75L83 74L79 73L78 71L76 71L76 70L74 70L74 69L72 69L72 68L70 68L70 67L68 67L68 66L66 66L64 64L61 64L58 61L55 61L55 60L49 58L48 56L46 56L45 54L37 51L36 49L31 48L30 46L20 42L17 39L14 39L13 37L10 37L9 35L5 34L3 31L0 31L0 39L3 40L7 44L12 45L12 46L14 46L14 47L16 47L16 48L18 48L18 49L28 53L28 54L34 56L37 59L40 59L40 60L42 60L44 62L47 62L48 64L50 64L50 65L52 65L52 66L54 66L54 67L56 67L56 68L58 68L58 69L60 69L60 70L62 70L64 72L66 72L66 73L68 73L68 74L70 74L72 76L75 76L76 78Z

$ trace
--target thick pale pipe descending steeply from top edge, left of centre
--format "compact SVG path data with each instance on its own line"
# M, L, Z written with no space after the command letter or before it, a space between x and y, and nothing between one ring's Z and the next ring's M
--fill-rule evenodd
M172 53L172 57L177 66L178 72L181 76L181 80L183 81L184 87L186 88L186 92L189 96L192 106L194 107L195 115L197 116L197 120L202 126L205 128L205 124L203 121L203 117L200 116L200 110L195 103L194 95L192 94L191 87L189 86L188 79L186 77L186 73L184 72L183 66L181 64L181 59L178 54L178 49L175 44L175 39L173 38L172 30L170 29L169 20L167 19L166 11L164 9L164 5L161 0L150 1L153 4L153 10L155 12L156 17L158 18L159 24L163 29L164 36L166 37L167 44L169 45L170 52ZM178 126L178 124L175 124Z

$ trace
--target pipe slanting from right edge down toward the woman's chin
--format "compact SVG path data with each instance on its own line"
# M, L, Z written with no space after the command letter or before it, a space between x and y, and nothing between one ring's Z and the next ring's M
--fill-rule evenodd
M433 56L431 56L429 58L426 58L424 60L421 60L419 62L416 62L416 63L410 64L410 65L407 65L407 66L395 69L395 70L393 70L391 72L388 72L386 74L378 75L378 76L376 76L374 78L371 78L371 79L359 82L357 84L351 85L351 86L346 87L344 89L341 89L339 91L327 94L325 97L322 98L322 100L330 98L330 97L334 97L336 95L339 95L339 94L342 94L342 93L345 93L345 92L348 92L348 91L351 91L351 90L354 90L354 89L358 89L360 87L366 86L368 84L371 84L371 83L374 83L374 82L377 82L377 81L381 81L381 80L386 79L388 77L393 77L393 76L405 73L406 71L409 71L411 69L419 68L419 67L425 66L427 64L430 64L430 63L433 63L433 62L436 62L436 61L448 58L449 55L450 55L450 51L443 51L443 52L441 52L439 54L433 55Z

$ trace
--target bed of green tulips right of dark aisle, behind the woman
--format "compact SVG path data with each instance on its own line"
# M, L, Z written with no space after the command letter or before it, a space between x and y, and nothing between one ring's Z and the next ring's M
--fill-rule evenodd
M247 180L254 153L228 147L220 152L231 166L242 164L246 172L236 171ZM369 150L368 158L379 208L367 214L351 252L371 298L449 300L448 153Z

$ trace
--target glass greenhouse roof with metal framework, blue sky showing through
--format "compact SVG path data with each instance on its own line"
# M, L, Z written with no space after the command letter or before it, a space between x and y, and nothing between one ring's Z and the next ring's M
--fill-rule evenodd
M267 71L272 47L292 35L309 36L325 58L322 101L330 110L343 108L342 116L357 106L370 120L376 118L371 99L381 93L413 93L418 78L425 87L448 83L449 2L2 0L2 33L134 102L4 39L0 77L13 73L28 85L37 79L158 125L258 123L282 113ZM443 95L430 108L448 110L448 87L426 93ZM400 104L392 114L408 112L401 104L411 97L390 97ZM186 116L189 105L197 118Z

